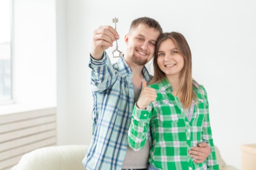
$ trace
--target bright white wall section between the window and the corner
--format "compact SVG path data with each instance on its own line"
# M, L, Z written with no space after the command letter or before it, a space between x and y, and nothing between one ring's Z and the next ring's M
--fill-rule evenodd
M13 61L16 104L56 106L55 1L13 0Z

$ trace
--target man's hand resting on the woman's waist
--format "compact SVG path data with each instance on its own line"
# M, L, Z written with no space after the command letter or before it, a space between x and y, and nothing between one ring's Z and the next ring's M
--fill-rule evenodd
M195 163L202 163L210 155L211 147L205 142L198 144L198 146L199 147L191 147L189 154L192 154L190 157L195 159Z

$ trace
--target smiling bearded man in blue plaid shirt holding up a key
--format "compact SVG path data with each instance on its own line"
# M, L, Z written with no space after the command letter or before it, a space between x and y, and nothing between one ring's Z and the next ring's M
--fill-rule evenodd
M146 145L138 152L128 147L127 133L142 79L149 82L152 78L144 65L153 57L160 33L161 26L151 18L132 21L129 33L125 35L126 53L112 65L104 50L119 38L117 31L111 26L100 26L94 31L89 62L94 97L93 137L83 159L88 170L146 170L150 132ZM198 150L192 154L208 156L210 147L205 143L202 145L204 148L196 147Z

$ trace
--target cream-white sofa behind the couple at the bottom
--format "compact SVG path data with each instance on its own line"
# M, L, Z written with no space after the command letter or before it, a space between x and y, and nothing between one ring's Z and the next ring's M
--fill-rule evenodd
M86 170L82 164L88 146L49 146L33 150L22 156L11 170ZM220 170L238 170L226 165L216 148Z

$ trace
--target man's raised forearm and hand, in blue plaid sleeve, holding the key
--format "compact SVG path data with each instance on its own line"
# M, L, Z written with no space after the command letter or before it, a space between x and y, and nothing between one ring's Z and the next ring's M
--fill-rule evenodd
M106 90L116 79L115 70L104 50L113 46L115 37L118 36L112 26L100 26L93 33L89 67L92 69L91 84L94 92Z

